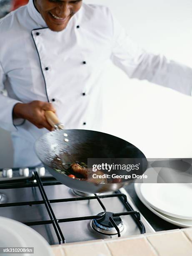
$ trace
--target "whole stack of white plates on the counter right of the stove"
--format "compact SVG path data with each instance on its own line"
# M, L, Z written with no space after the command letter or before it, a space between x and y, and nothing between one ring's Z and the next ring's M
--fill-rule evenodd
M157 216L182 228L192 227L192 184L139 184L135 191Z

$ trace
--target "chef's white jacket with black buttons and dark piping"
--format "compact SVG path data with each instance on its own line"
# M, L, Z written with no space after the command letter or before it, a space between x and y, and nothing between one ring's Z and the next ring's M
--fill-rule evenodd
M12 120L17 102L52 102L66 128L102 130L102 74L111 59L128 77L192 92L192 69L136 46L107 7L83 4L65 30L51 31L30 0L0 20L0 126L12 132L14 166L40 163L46 129Z

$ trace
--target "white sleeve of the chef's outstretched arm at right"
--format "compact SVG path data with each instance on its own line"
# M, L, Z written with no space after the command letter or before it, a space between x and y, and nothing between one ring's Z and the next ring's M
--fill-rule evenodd
M163 55L155 55L137 46L127 36L120 23L111 15L113 24L113 63L130 78L172 88L192 95L192 69Z

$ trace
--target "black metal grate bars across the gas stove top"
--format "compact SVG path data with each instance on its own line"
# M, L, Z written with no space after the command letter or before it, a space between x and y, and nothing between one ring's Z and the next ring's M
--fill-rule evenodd
M33 181L33 184L30 183L30 181ZM36 181L36 182L35 182ZM4 182L3 182L4 183ZM7 185L7 184L3 184L2 182L0 184L2 184L2 187L4 189L6 188L11 188L11 185ZM60 184L60 182L53 182L51 181L51 184ZM117 227L117 224L115 223L115 220L113 219L113 217L120 217L120 216L125 216L125 215L131 215L133 220L135 221L135 223L137 224L137 226L140 229L141 234L144 234L145 231L145 226L143 225L141 219L140 219L140 212L138 211L134 211L132 209L132 207L130 206L130 204L127 202L127 197L126 195L120 193L120 191L115 192L112 195L96 195L95 196L89 196L89 197L73 197L73 198L65 198L65 199L56 199L56 200L48 200L46 192L44 190L43 186L46 185L50 185L49 182L42 182L38 173L34 172L34 176L32 177L32 179L28 179L27 180L27 184L25 182L22 181L20 184L15 184L15 188L20 188L20 187L38 187L40 190L40 194L42 196L42 200L38 200L38 201L28 201L28 202L15 202L15 203L2 203L0 204L0 208L1 207L12 207L12 206L25 206L25 205L40 205L40 204L44 204L47 210L47 213L49 215L50 220L42 220L42 221L34 221L34 222L25 222L25 225L28 226L33 226L33 225L46 225L46 224L52 224L58 242L59 244L62 243L66 243L65 241L65 237L62 233L62 230L60 229L59 223L64 223L64 222L72 222L72 221L80 221L80 220L94 220L94 219L100 219L102 217L105 216L106 214L106 209L105 206L103 205L103 203L101 202L100 199L102 198L109 198L109 197L119 197L119 199L122 201L122 203L124 204L125 208L127 209L127 212L117 212L117 213L113 213L112 217L110 217L110 222L112 223L113 227L116 229L118 237L120 237L120 230ZM12 187L13 187L12 186ZM51 203L58 203L58 202L72 202L72 201L82 201L82 200L97 200L98 203L100 204L100 206L103 209L103 212L101 212L98 215L91 215L91 216L85 216L85 217L76 217L76 218L65 218L65 219L57 219L55 217L55 213L51 207Z

